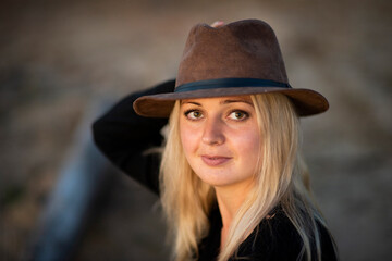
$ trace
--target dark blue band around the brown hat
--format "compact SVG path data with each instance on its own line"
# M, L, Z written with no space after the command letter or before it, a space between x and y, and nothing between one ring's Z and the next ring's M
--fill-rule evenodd
M258 78L219 78L192 82L177 86L174 92L184 92L199 89L238 88L238 87L281 87L291 89L290 84Z

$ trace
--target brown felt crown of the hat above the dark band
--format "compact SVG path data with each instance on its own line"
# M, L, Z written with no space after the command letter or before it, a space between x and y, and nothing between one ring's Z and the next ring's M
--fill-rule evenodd
M188 35L176 86L217 78L261 78L289 83L272 28L244 20L218 28L195 25Z

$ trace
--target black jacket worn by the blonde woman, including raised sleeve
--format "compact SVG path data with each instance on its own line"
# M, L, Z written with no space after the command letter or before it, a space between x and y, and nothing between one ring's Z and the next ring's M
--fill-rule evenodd
M93 125L98 148L114 165L127 175L159 195L159 156L143 153L162 142L160 129L167 119L142 117L133 110L133 101L144 95L170 92L174 80L169 80L148 90L135 92L117 103ZM246 260L296 260L302 249L302 239L284 212L277 207L272 219L264 220L241 244L236 257ZM216 260L220 247L222 221L218 207L210 214L210 232L199 244L198 260ZM332 239L322 226L322 260L336 260ZM314 256L315 253L313 253ZM237 260L232 257L231 260Z

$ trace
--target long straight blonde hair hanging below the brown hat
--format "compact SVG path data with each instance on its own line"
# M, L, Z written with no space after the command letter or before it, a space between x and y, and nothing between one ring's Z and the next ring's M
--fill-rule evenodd
M255 186L232 221L218 261L236 254L241 243L262 219L280 204L303 239L298 258L311 260L316 247L321 260L320 235L316 222L326 225L313 201L309 176L298 152L299 120L289 98L281 94L252 96L260 135L260 161ZM160 191L169 229L174 237L176 261L197 258L197 246L209 232L208 215L216 202L213 187L191 169L180 139L180 102L169 121L169 135L162 154ZM315 251L315 250L314 250Z

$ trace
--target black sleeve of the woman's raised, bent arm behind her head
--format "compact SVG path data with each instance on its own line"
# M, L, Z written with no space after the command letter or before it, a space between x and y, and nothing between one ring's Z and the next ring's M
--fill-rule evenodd
M93 124L94 141L100 151L118 167L154 192L159 194L160 158L143 153L160 147L160 129L168 119L143 117L136 114L133 102L140 96L171 92L175 80L168 80L150 89L132 94L118 102Z

